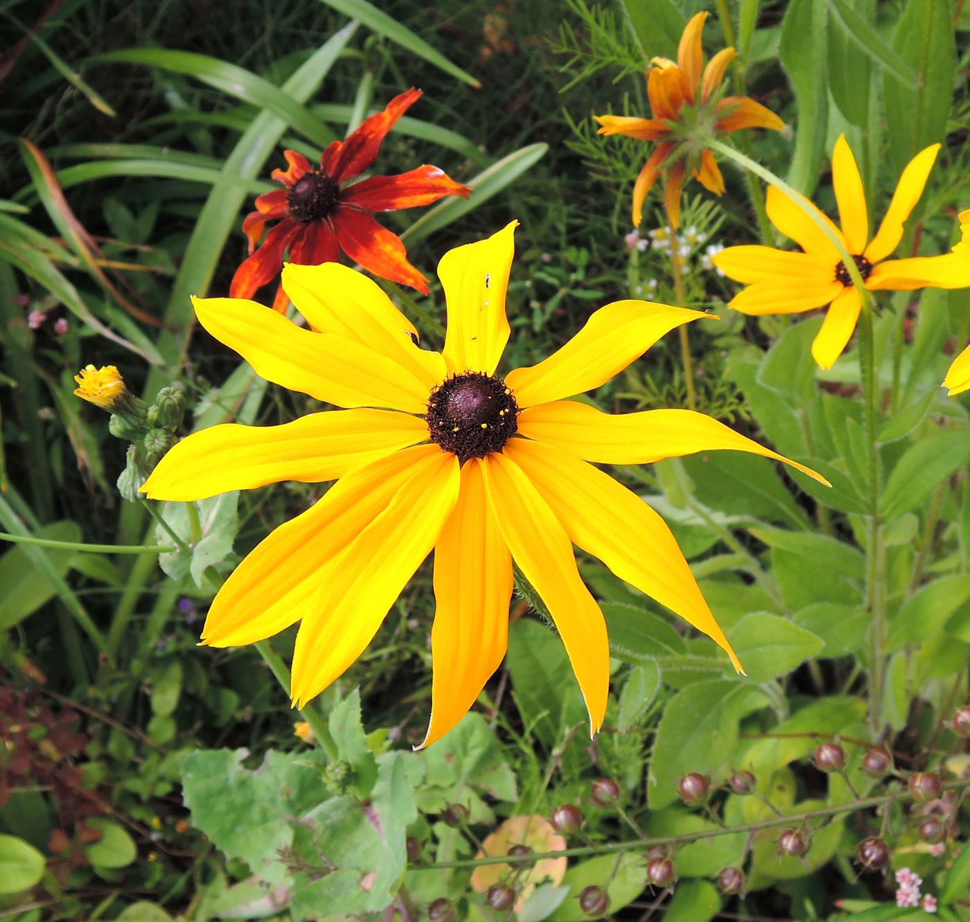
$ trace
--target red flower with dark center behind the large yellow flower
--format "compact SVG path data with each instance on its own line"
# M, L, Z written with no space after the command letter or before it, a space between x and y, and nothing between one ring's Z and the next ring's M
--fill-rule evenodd
M428 293L428 280L407 261L404 243L381 227L371 212L431 205L447 195L468 198L469 187L428 165L351 183L371 166L394 123L420 97L421 90L411 87L392 99L346 141L331 143L320 157L319 167L312 166L302 153L284 151L289 166L274 170L273 178L286 188L259 196L256 210L242 222L250 255L233 276L231 297L251 298L272 281L287 250L289 262L300 266L338 262L342 250L375 275ZM276 219L279 223L256 249L264 226ZM280 285L273 306L281 311L286 303Z

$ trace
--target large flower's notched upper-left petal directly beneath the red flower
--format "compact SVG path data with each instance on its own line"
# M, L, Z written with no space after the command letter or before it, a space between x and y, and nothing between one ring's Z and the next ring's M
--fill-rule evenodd
M352 339L393 359L431 391L445 377L444 360L418 346L418 332L380 286L339 263L283 267L283 289L319 333Z

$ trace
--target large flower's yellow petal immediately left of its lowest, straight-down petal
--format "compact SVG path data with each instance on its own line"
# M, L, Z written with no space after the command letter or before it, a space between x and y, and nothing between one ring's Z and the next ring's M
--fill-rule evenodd
M458 459L438 450L327 567L293 653L292 696L305 704L371 643L429 555L458 499Z

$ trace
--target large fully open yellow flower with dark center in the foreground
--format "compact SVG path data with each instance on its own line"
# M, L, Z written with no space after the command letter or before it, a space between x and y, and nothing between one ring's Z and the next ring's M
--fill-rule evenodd
M516 222L446 253L443 352L365 275L287 266L283 287L312 330L262 304L195 300L200 323L269 381L345 409L283 426L189 435L145 485L192 500L282 480L337 480L280 525L220 589L207 644L238 647L301 620L293 698L334 682L371 642L435 549L432 715L423 745L468 711L505 652L512 560L548 606L593 731L609 645L572 545L737 658L661 518L590 462L634 464L734 449L807 468L689 410L611 416L566 399L598 388L663 334L705 314L641 301L596 311L558 352L499 376ZM821 479L821 478L820 478Z

